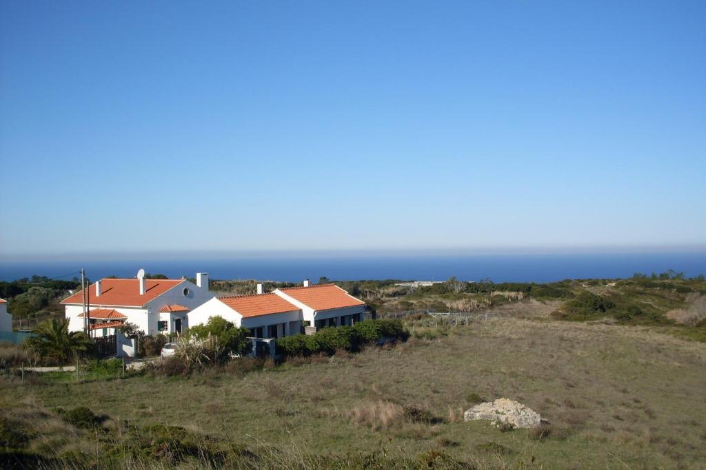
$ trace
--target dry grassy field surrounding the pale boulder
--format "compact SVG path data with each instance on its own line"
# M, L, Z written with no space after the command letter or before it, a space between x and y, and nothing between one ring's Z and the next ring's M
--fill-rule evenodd
M58 425L43 410L83 404L113 423L182 426L272 455L373 452L394 461L441 452L479 468L706 465L706 344L651 327L498 319L245 374L0 386L5 426L43 419L51 429ZM549 435L463 422L477 397L527 404L549 420ZM39 434L30 450L95 452L100 462L90 432Z

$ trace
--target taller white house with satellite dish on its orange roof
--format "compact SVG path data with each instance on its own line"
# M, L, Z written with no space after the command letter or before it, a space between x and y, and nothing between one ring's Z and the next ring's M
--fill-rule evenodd
M95 336L112 335L126 321L149 335L181 333L189 326L189 311L213 298L207 273L196 273L193 284L186 279L145 279L142 270L133 279L101 279L86 294ZM61 304L66 306L69 330L83 331L83 290Z

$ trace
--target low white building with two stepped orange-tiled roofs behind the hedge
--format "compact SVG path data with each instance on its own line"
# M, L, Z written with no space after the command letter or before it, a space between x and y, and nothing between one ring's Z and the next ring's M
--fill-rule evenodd
M282 338L302 333L305 326L352 325L364 319L365 302L337 285L309 285L257 295L215 297L189 312L189 324L222 316L236 326L250 328L253 338Z

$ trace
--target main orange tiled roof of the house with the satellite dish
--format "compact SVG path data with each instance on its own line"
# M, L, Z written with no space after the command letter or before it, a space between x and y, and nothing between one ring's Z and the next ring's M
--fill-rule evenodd
M159 297L175 285L183 283L181 279L145 279L145 294L140 295L137 279L102 279L100 297L95 295L95 283L88 290L91 305L115 305L118 307L144 307L150 300ZM61 301L62 304L81 304L83 290Z

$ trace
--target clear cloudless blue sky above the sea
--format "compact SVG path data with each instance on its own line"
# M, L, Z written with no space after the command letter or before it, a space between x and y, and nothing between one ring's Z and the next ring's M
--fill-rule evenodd
M704 1L3 1L0 256L706 245Z

